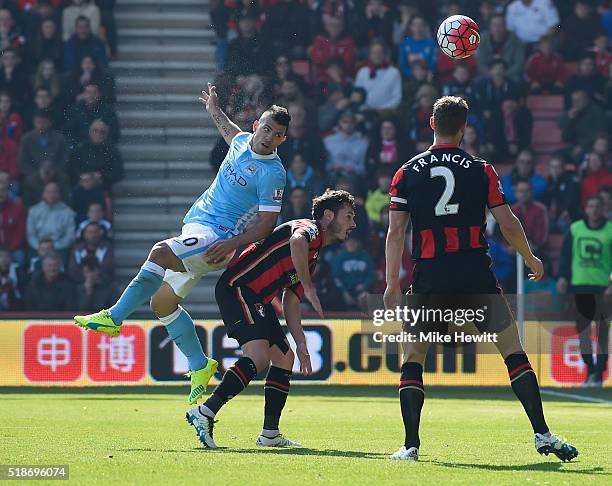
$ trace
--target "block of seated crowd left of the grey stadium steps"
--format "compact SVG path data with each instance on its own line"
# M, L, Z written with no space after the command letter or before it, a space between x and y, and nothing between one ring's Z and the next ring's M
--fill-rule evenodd
M116 297L114 4L0 0L0 312Z

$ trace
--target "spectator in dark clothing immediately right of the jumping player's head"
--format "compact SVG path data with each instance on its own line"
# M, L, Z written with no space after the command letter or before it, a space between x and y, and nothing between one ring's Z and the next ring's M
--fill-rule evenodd
M312 130L307 130L304 108L292 105L289 107L289 114L291 123L287 130L287 141L278 147L279 157L287 163L296 152L300 152L315 172L322 171L326 156L321 137Z

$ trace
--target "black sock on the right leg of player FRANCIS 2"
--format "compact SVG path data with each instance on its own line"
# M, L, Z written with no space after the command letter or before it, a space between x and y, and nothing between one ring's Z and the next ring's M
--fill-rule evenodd
M508 368L512 390L523 404L533 431L545 434L548 432L548 425L544 420L540 387L527 355L524 353L511 354L505 359L505 363Z

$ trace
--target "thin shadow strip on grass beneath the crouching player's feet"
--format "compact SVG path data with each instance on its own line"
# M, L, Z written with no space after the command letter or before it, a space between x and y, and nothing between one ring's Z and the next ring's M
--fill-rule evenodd
M276 454L289 456L321 456L321 457L348 457L358 459L381 459L389 457L388 454L363 451L339 451L336 449L310 449L308 447L287 447L287 448L253 448L253 449L235 449L232 447L219 447L215 450L194 447L193 449L119 449L122 452L161 452L161 453L182 453L182 452L199 452L202 454L217 454L220 452L231 454Z

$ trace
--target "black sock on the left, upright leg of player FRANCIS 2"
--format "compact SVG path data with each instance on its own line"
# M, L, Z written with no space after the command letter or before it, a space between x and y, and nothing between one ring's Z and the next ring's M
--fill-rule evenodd
M400 406L402 409L402 420L406 431L404 446L418 448L421 445L419 439L419 423L421 421L421 410L425 401L425 390L423 388L423 366L419 363L404 363L400 376Z

